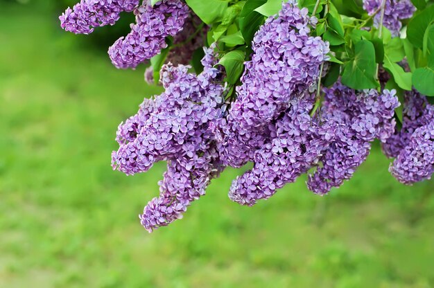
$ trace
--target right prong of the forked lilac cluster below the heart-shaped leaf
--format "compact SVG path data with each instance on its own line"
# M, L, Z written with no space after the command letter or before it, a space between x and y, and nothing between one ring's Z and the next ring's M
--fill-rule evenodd
M324 195L350 179L367 158L375 138L385 142L393 134L396 91L361 93L336 83L325 89L321 134L330 138L317 170L309 175L308 188Z

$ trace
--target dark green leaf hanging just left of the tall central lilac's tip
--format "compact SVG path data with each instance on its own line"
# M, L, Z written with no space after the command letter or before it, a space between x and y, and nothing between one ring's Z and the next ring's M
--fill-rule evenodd
M259 26L265 21L265 17L254 11L259 6L266 3L266 0L248 0L239 16L240 30L245 39L245 43L250 44L253 40L254 33L257 32Z

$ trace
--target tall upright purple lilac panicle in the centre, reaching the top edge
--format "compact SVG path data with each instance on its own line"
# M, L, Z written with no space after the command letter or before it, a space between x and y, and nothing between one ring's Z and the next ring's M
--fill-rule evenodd
M329 44L310 37L309 17L297 1L284 3L277 18L270 17L254 36L252 60L245 63L237 99L223 120L220 156L225 165L241 167L270 142L268 124L294 98L318 80Z

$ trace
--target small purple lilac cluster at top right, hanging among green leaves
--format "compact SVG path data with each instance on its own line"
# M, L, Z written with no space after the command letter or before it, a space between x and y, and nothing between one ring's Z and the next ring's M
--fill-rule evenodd
M381 20L381 12L378 12L383 0L363 0L363 8L367 14L374 16L374 25L378 28ZM383 26L388 28L393 37L399 36L402 24L401 20L413 17L416 8L410 0L385 0Z

